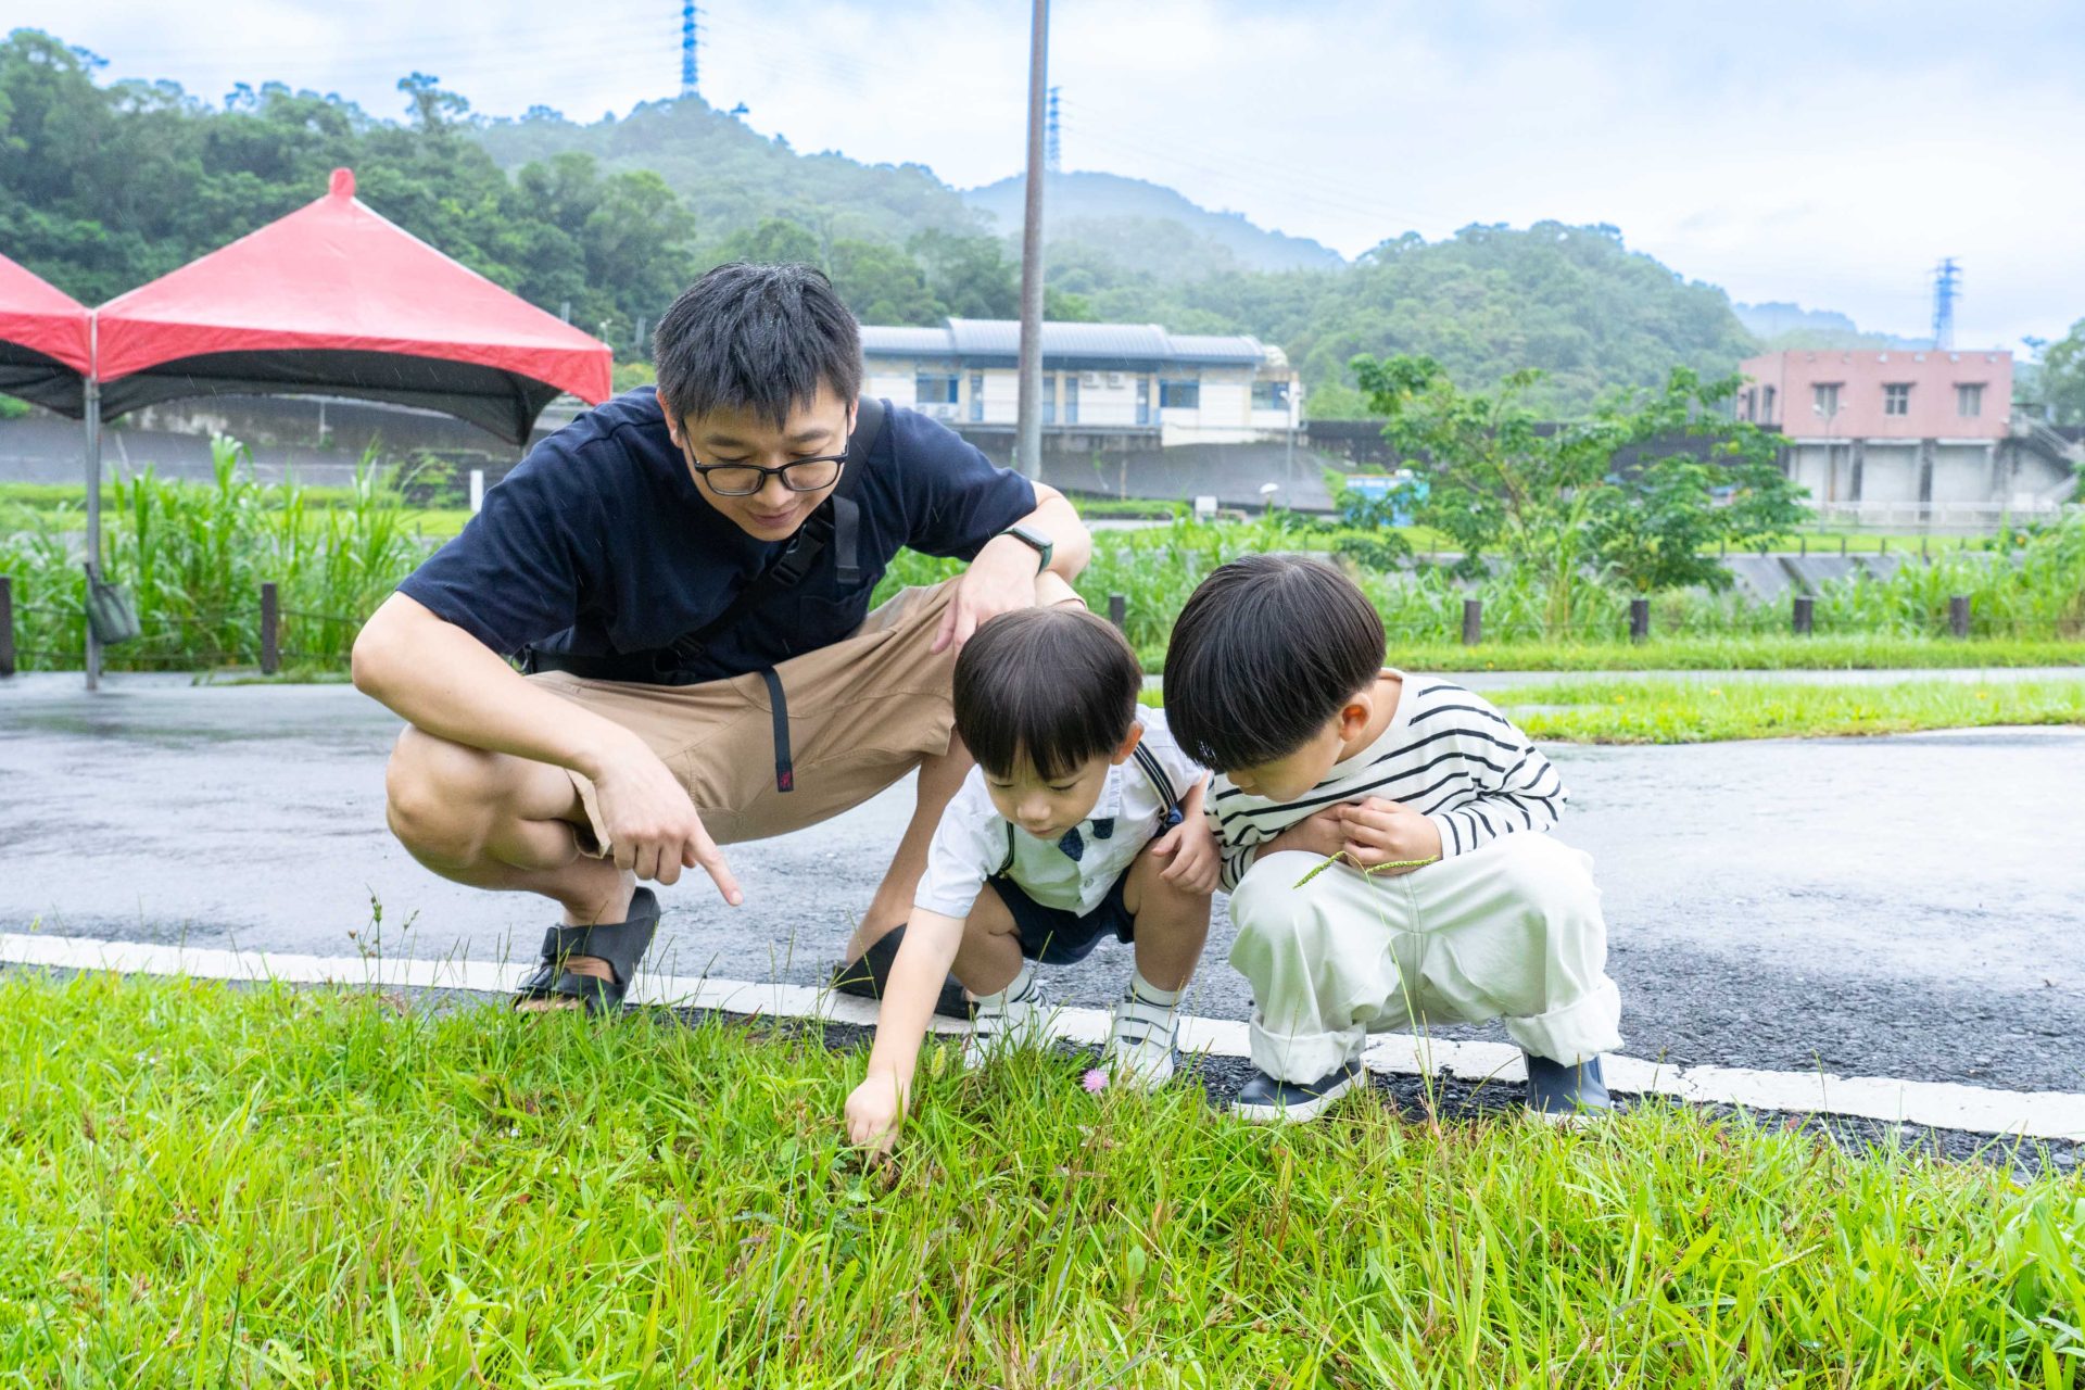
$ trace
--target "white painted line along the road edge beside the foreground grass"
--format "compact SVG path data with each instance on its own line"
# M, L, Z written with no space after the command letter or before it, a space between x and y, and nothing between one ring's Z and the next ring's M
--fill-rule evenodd
M467 990L473 994L507 994L534 969L530 963L309 957L21 932L0 934L0 961L75 971L108 969L127 975L279 979L286 984ZM630 988L630 1000L782 1019L876 1023L874 1002L801 984L757 984L751 979L655 975L640 971ZM1107 1025L1109 1015L1105 1009L1059 1009L1051 1032L1070 1042L1099 1044L1107 1040ZM959 1034L965 1025L955 1019L934 1019L934 1027ZM1247 1057L1245 1023L1182 1017L1180 1046L1186 1052ZM1364 1061L1372 1071L1380 1073L1455 1075L1468 1082L1487 1077L1518 1082L1526 1077L1518 1048L1499 1042L1447 1042L1414 1034L1378 1034ZM1899 1082L1870 1075L1841 1077L1829 1071L1666 1067L1639 1057L1605 1059L1605 1075L1610 1090L1735 1104L1747 1111L1858 1115L1864 1119L1964 1130L1970 1134L2085 1140L2085 1094L2081 1092L1989 1090L1983 1086L1956 1086L1952 1082Z

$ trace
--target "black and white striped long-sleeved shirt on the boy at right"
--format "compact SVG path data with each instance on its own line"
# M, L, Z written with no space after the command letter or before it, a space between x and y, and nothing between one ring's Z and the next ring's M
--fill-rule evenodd
M1424 813L1441 829L1441 857L1526 829L1549 829L1564 806L1564 779L1514 723L1482 696L1428 675L1403 675L1397 713L1376 742L1297 800L1247 796L1230 777L1209 788L1207 815L1224 857L1224 890L1238 886L1259 848L1336 802L1370 796Z

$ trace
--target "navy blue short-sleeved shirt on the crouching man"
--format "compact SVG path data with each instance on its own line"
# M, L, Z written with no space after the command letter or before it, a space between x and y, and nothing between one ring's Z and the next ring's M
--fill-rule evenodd
M830 646L861 627L901 548L970 561L1034 511L1026 477L947 425L901 408L884 421L847 483L861 508L859 579L840 586L828 546L801 584L717 634L682 679L744 675ZM784 544L746 536L703 498L646 386L532 448L398 590L502 656L523 646L648 652L723 613Z

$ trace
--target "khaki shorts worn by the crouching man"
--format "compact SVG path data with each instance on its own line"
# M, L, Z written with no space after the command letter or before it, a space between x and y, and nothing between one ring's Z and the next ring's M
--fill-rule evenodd
M955 579L901 590L851 636L776 667L794 779L776 781L774 704L761 673L703 686L588 681L565 671L528 679L613 719L673 769L717 844L765 840L859 806L955 731L955 648L928 652ZM580 848L607 854L594 784L571 773L590 827Z

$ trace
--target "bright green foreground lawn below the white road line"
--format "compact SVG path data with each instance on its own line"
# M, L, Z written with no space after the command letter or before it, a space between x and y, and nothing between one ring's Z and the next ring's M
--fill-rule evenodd
M0 979L6 1386L2062 1386L2085 1184L1670 1104L1257 1130L1078 1063Z

